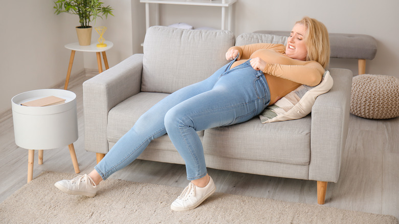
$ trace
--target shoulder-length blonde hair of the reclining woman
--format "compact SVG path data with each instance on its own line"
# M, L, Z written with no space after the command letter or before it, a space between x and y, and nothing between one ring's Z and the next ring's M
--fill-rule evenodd
M304 38L307 50L306 60L317 61L326 69L330 61L330 40L327 28L317 19L307 16L295 24L302 24L306 27Z

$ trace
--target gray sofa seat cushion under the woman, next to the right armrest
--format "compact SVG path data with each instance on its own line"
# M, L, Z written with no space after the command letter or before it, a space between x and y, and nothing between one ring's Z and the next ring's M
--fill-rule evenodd
M205 130L204 153L224 158L309 165L311 116L262 124L259 118ZM278 149L278 150L276 150Z

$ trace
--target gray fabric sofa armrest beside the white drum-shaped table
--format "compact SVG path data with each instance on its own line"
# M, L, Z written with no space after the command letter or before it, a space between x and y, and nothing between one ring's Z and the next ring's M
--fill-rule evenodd
M108 152L108 112L141 89L143 54L135 54L83 83L84 148Z

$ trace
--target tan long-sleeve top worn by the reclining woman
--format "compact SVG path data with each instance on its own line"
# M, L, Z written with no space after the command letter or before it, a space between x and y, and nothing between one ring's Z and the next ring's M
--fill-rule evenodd
M255 57L267 62L262 72L269 84L271 96L269 105L302 84L318 85L325 72L323 66L317 61L300 61L285 55L285 47L282 44L254 43L234 46L230 49L237 49L240 55L232 64L231 69Z

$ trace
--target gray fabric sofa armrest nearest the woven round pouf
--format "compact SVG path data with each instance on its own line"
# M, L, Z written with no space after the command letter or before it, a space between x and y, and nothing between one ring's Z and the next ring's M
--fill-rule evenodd
M333 88L312 107L309 180L337 182L348 133L352 72L330 69Z

